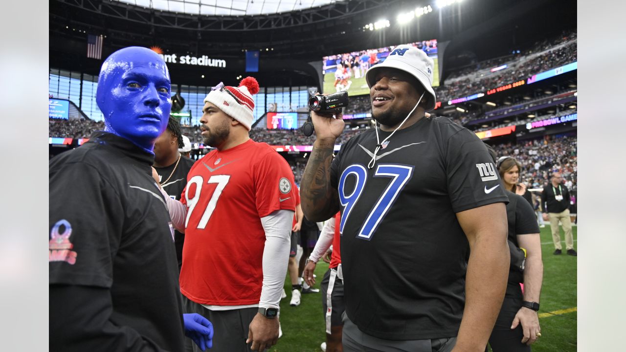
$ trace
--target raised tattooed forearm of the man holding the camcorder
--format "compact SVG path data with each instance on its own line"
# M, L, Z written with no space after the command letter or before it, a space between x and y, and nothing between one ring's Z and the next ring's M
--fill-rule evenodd
M302 212L311 221L324 221L339 210L337 190L331 185L333 148L314 145L300 184Z

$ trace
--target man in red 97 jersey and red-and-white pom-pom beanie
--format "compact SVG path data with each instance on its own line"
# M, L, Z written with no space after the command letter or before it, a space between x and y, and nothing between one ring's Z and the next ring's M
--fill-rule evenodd
M217 149L188 173L185 207L168 200L174 226L185 231L185 308L213 322L213 351L264 351L279 336L297 190L285 159L249 137L258 91L252 77L212 88L200 130Z

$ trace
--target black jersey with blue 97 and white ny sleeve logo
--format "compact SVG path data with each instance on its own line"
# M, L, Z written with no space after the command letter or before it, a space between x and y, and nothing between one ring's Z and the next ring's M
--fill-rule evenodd
M379 131L382 142L391 132ZM467 238L456 213L508 202L485 145L448 118L422 118L377 145L370 130L342 145L331 177L341 202L346 313L364 333L456 336Z

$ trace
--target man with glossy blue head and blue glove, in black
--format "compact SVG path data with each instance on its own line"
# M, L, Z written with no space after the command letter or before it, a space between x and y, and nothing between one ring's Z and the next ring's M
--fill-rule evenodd
M184 314L173 231L152 177L172 107L158 54L130 47L102 65L105 131L49 162L49 349L182 351L212 346L211 323Z

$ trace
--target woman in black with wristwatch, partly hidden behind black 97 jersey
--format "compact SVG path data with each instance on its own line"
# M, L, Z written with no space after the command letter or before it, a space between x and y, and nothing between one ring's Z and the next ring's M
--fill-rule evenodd
M487 145L487 149L496 161L493 148ZM493 352L526 352L541 337L537 312L543 281L540 230L531 205L521 195L511 192L512 187L506 187L508 184L516 184L517 180L511 177L507 179L505 172L510 170L511 165L518 166L519 163L512 157L499 161L498 172L509 197L506 217L511 267L505 299L491 332L489 345Z

